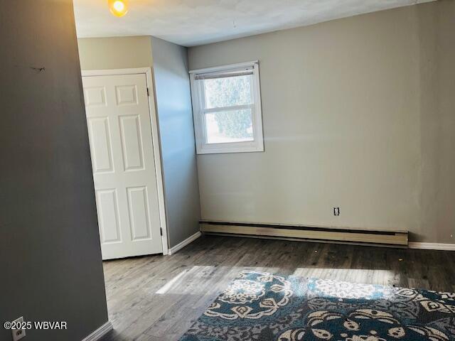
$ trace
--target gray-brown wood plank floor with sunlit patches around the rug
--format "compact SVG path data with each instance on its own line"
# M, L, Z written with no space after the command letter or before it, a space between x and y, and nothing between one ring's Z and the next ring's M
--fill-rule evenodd
M178 340L243 269L455 291L455 252L201 237L172 256L105 261L102 341Z

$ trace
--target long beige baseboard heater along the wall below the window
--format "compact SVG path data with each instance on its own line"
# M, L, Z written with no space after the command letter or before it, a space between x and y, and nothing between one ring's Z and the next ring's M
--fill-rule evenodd
M301 239L310 242L380 244L407 247L407 231L373 231L333 227L310 227L286 224L251 224L246 222L200 221L200 231L245 237Z

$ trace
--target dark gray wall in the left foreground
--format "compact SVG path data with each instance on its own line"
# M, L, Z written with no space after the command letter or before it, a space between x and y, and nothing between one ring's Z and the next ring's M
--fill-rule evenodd
M0 7L0 321L63 320L24 340L80 341L107 308L73 4Z

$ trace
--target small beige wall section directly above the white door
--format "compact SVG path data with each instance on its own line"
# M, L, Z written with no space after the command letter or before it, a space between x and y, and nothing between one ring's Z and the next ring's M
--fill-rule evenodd
M151 37L78 39L82 70L151 67Z

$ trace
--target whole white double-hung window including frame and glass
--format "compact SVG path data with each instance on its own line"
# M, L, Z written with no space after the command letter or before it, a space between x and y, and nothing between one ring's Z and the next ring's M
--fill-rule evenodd
M191 71L196 151L264 151L257 62Z

